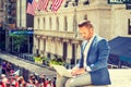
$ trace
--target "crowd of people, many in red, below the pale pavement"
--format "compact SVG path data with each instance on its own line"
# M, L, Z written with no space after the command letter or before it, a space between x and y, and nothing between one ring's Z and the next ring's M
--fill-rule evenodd
M20 76L13 71L10 62L1 63L0 87L56 87L56 77L46 75L36 76L29 74L25 80L24 76Z

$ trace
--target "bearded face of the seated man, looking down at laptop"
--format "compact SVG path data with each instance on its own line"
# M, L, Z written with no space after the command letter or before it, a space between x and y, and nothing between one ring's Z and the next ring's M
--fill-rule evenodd
M80 27L80 34L83 37L83 39L85 40L90 40L92 38L93 35L93 29L92 28L87 28L85 26Z

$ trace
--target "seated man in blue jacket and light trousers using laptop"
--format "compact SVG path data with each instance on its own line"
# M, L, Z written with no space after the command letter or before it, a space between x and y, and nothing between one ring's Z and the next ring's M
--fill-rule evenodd
M57 75L57 87L109 85L110 78L107 69L108 42L94 33L94 27L90 21L84 20L78 26L84 39L81 47L80 62L72 69L73 77Z

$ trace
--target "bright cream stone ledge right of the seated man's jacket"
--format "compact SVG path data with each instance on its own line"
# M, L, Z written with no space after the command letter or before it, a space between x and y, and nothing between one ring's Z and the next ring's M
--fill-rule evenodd
M131 87L131 69L109 70L111 85L84 87Z

